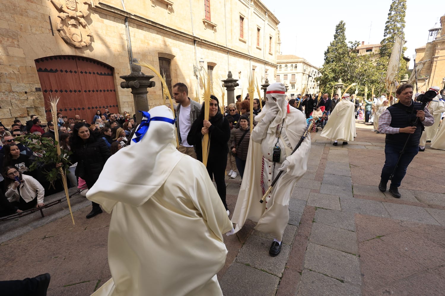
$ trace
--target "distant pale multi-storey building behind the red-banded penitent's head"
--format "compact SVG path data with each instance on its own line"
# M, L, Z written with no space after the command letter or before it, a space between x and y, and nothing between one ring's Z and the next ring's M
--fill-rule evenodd
M275 81L284 83L288 87L287 94L290 98L303 92L314 94L319 91L315 78L320 75L318 67L309 63L306 59L296 55L277 55L278 69Z

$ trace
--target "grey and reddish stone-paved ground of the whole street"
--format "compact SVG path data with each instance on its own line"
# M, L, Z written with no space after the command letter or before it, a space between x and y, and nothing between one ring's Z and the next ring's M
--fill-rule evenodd
M225 296L443 295L445 151L420 152L396 199L377 188L384 135L370 129L357 123L356 141L345 146L312 133L281 253L268 255L271 237L250 221L224 236L229 253L218 279ZM239 183L239 177L227 180L231 211ZM0 279L49 272L49 296L87 296L110 278L110 215L87 220L89 201L76 196L72 203L76 225L66 204L48 209L45 218L35 213L2 222Z

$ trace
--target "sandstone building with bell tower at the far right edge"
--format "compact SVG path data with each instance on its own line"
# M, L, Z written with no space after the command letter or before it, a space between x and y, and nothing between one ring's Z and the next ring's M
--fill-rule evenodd
M430 41L416 48L416 63L423 64L421 71L417 71L418 91L445 86L445 14L441 17L441 29Z

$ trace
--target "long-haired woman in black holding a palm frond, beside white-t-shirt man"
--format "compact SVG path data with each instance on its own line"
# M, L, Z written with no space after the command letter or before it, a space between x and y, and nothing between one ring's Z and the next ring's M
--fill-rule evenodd
M204 134L209 134L210 149L209 157L207 158L207 172L210 175L210 179L212 177L214 178L218 195L221 201L223 201L227 215L229 215L224 177L227 165L227 153L229 152L227 142L230 138L230 125L227 119L223 117L219 109L218 99L214 95L210 96L209 120L204 120L204 112L205 107L203 104L201 113L190 128L187 142L196 147L196 157L202 162L202 137Z

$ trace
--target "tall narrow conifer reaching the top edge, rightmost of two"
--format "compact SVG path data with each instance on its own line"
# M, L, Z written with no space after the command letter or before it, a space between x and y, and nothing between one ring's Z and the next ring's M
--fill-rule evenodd
M405 39L405 12L406 12L406 0L392 0L389 7L388 20L385 23L385 29L383 33L383 40L380 42L382 47L380 48L380 56L389 59L391 56L392 47L396 36L401 36ZM406 47L403 48L403 53Z

